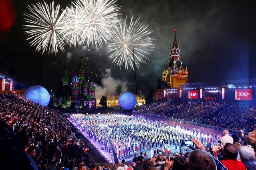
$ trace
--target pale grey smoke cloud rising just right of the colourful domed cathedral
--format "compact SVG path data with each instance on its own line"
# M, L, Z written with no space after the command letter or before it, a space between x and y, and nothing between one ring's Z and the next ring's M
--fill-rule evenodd
M96 98L102 96L117 96L121 92L127 91L128 82L126 80L115 79L111 76L111 69L106 69L103 78L101 79L101 86L95 84Z

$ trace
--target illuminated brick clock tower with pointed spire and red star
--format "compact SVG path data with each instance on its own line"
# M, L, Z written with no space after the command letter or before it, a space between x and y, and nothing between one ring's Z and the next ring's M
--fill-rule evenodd
M167 84L167 88L177 88L178 85L187 83L188 71L184 69L180 58L180 47L176 38L176 29L174 30L173 45L170 49L170 61L167 69L163 68L162 81Z

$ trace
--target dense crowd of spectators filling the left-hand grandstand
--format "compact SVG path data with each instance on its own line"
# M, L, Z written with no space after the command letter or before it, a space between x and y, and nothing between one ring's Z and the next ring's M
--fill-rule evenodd
M78 168L74 155L81 156L86 166L90 163L85 147L71 136L55 110L18 95L0 95L0 121L17 136L38 169Z

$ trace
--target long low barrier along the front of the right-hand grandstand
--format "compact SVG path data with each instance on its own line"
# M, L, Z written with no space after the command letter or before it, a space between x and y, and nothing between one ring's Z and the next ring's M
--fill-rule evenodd
M211 125L207 125L207 124L201 124L201 123L196 123L196 122L189 122L189 121L186 121L186 120L179 120L179 119L174 119L174 118L166 118L165 116L161 116L161 115L153 115L153 114L147 114L147 113L142 113L142 112L135 112L133 111L134 113L137 113L137 114L142 114L142 115L145 115L145 116L151 116L151 117L155 117L155 118L161 118L161 119L165 119L165 120L171 120L171 121L174 121L174 122L179 122L179 123L184 123L184 124L189 124L189 125L194 125L194 126L200 126L200 127L204 127L204 128L209 128L209 129L214 129L214 130L220 130L220 131L223 131L225 130L226 128L220 128L220 127L217 127L217 126L211 126ZM233 129L227 129L231 134L239 134L240 131L238 130L233 130Z

